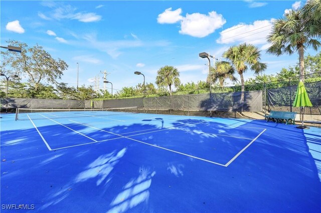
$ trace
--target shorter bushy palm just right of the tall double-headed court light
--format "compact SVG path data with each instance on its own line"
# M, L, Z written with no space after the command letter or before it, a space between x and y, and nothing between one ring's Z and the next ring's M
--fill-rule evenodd
M226 79L230 79L233 82L237 81L235 77L235 68L231 65L231 63L227 61L220 61L215 64L215 67L211 68L211 75L213 81L219 81L220 86L224 86L224 82ZM209 75L207 76L207 81L209 82Z

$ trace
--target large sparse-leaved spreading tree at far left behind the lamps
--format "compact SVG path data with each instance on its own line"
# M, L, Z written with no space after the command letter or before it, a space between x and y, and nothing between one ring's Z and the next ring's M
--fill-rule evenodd
M3 56L1 71L4 73L18 73L28 76L28 81L39 91L41 82L56 83L61 78L63 71L68 68L67 63L58 58L54 59L42 46L36 44L29 47L26 43L9 40L9 45L20 46L22 52L1 51Z

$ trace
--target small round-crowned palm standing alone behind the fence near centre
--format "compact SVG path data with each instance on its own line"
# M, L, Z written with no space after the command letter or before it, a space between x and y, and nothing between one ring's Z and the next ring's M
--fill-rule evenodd
M181 83L180 72L174 66L163 66L157 70L156 85L169 86L170 95L172 95L172 85L178 86Z

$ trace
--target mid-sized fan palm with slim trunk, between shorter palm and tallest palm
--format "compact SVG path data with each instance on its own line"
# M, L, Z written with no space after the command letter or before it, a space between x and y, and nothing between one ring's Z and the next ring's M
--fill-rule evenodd
M266 69L266 63L260 62L260 50L253 44L241 43L237 46L231 46L223 53L223 57L227 58L233 64L236 71L241 77L242 91L244 91L243 73L249 68L256 74Z

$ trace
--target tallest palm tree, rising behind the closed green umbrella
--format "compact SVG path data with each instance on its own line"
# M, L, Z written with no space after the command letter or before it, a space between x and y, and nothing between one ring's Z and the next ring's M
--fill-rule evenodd
M320 22L320 21L319 21ZM321 43L317 39L317 26L310 27L311 21L303 16L300 9L291 10L283 18L273 21L272 32L267 40L272 44L267 52L275 55L299 53L300 79L304 81L304 49L312 47L317 50Z

